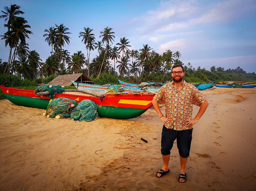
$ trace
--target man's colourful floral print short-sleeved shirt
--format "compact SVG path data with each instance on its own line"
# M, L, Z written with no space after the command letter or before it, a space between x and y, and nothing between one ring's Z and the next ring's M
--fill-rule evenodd
M193 128L185 126L185 120L191 119L193 104L200 106L206 100L196 87L186 81L182 82L179 90L174 88L173 82L165 84L153 99L165 103L165 117L171 120L166 128L178 131Z

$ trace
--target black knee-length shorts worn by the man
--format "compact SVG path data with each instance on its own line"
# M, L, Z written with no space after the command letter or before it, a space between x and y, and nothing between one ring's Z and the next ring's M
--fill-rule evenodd
M179 150L180 156L182 158L189 157L190 146L192 141L192 131L193 129L176 131L173 129L167 129L164 125L161 140L162 155L171 154L173 142L175 141L175 139L177 139L177 148Z

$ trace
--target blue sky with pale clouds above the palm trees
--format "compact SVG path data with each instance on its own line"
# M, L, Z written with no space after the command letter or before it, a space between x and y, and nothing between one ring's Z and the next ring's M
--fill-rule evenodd
M27 40L45 60L51 47L43 34L55 24L69 28L72 34L65 50L70 54L86 49L79 38L84 27L93 29L95 40L106 27L115 32L112 47L125 37L131 49L148 44L162 54L166 50L181 53L180 60L194 68L210 70L241 67L256 72L256 0L0 0L0 10L11 4L20 6L33 32ZM0 35L7 28L0 19ZM98 55L91 52L90 61ZM7 61L9 47L0 40L0 59Z

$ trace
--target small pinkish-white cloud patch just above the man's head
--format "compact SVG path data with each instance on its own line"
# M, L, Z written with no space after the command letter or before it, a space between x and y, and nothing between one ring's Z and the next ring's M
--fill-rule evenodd
M163 53L168 49L182 51L182 50L185 50L186 47L187 47L187 43L185 39L176 39L176 40L161 44L157 52Z

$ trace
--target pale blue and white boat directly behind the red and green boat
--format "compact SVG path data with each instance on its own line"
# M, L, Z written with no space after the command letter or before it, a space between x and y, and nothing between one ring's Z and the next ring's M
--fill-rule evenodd
M80 82L75 82L72 81L72 83L74 84L74 86L77 89L80 90L86 90L86 91L90 91L94 94L103 94L106 91L110 90L108 89L110 86L109 85L104 85L104 86L100 86L100 85L94 85L94 84L87 84L87 83L80 83ZM126 88L126 87L120 87L122 89L122 92L126 92L126 93L131 93L131 92L146 92L145 89L132 89L132 88ZM111 93L111 92L110 92Z

